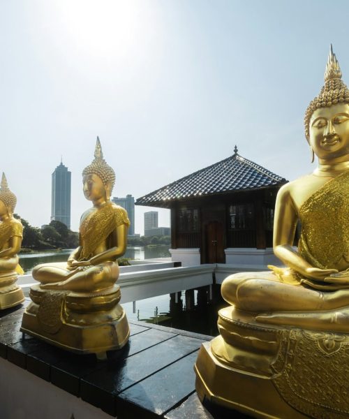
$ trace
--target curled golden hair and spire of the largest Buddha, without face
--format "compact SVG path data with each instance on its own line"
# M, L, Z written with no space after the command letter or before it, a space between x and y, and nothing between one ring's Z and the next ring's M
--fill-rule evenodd
M336 54L334 54L331 44L325 70L325 84L320 90L320 94L313 98L311 103L309 103L304 115L305 134L308 141L309 122L314 110L318 108L327 108L336 105L336 103L349 103L349 90L341 78L341 68L339 67L339 62L336 59Z

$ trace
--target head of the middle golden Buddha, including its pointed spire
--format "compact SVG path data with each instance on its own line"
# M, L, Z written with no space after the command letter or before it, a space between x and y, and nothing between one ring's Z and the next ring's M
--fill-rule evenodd
M84 195L88 200L109 200L115 183L115 172L103 159L101 142L97 137L94 160L82 171Z

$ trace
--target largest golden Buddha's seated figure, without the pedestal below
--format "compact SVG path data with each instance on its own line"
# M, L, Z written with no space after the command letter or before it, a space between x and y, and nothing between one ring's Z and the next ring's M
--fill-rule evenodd
M325 86L304 124L319 164L285 184L276 198L273 246L286 268L233 274L221 293L235 307L259 313L258 321L349 332L343 316L332 318L332 310L349 306L349 91L332 50ZM302 230L294 249L298 221Z

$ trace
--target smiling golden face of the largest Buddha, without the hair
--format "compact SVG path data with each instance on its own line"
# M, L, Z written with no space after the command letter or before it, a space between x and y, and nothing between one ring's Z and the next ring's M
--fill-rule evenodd
M319 108L309 123L310 145L322 160L348 156L349 159L349 105L338 103Z

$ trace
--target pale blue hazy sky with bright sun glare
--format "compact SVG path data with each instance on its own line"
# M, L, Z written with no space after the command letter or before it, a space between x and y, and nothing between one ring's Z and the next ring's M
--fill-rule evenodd
M140 198L235 145L286 179L311 172L304 111L330 43L349 83L348 17L345 0L0 0L0 171L15 212L50 222L62 156L77 230L97 135L112 196ZM136 233L149 210L135 207Z

